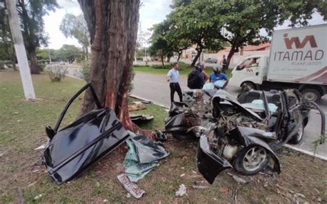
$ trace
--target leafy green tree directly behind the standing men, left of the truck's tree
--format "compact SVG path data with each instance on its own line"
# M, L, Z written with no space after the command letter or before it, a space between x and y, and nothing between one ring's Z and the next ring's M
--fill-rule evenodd
M223 48L223 43L218 38L219 28L223 23L215 18L217 5L210 1L175 1L175 10L168 16L170 21L175 21L174 27L178 31L179 39L188 39L195 45L197 55L192 65L199 60L201 52L205 49L218 52ZM219 1L220 2L220 1ZM181 5L181 6L180 6Z

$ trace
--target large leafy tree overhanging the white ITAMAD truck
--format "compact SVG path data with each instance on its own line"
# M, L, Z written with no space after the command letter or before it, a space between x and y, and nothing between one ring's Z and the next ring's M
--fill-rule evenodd
M227 56L228 65L235 52L245 45L259 45L268 41L273 29L290 20L290 26L306 26L315 10L326 9L324 1L219 1L213 3L215 17L212 21L221 21L219 27L224 32L217 31L219 39L230 44ZM321 14L324 15L323 12ZM326 17L324 17L326 18ZM266 33L261 32L266 30Z

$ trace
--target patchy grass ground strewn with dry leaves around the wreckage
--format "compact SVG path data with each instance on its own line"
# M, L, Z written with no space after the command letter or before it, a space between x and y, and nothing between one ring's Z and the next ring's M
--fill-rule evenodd
M114 151L68 184L55 185L41 165L46 142L44 127L54 126L66 101L84 84L66 78L51 83L48 76L32 76L37 101L23 100L18 72L0 71L0 203L326 203L326 162L290 151L280 154L281 174L275 179L258 174L242 176L249 183L238 184L226 172L213 185L197 172L197 141L170 139L164 143L170 156L137 185L146 191L142 198L130 197L117 180L123 171L126 148ZM76 119L82 97L73 104L64 124ZM143 128L162 129L167 113L157 105L148 105L144 114L155 120ZM137 113L137 112L136 112ZM184 176L182 176L184 175ZM175 197L184 183L188 196ZM206 189L192 185L205 185ZM40 198L34 200L36 196Z

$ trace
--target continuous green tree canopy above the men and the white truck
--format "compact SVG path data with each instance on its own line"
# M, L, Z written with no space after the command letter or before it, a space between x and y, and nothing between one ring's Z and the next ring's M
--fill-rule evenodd
M232 55L239 48L268 41L267 34L270 36L273 29L286 20L290 21L291 27L305 26L315 11L326 19L326 3L322 0L173 0L170 7L173 10L167 19L154 26L152 39L156 39L156 36L157 39L164 38L168 45L190 42L197 50L193 65L202 50L218 51L226 43L230 45L227 58L229 64ZM168 48L173 50L172 46Z

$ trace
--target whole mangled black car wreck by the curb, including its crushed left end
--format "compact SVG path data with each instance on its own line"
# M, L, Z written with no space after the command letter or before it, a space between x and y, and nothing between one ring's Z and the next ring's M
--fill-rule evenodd
M250 90L232 99L225 90L186 90L184 103L172 103L165 132L179 140L200 137L197 167L209 182L226 169L254 175L273 159L273 172L281 172L276 150L285 143L300 143L311 108L297 90ZM321 141L323 142L323 141Z

